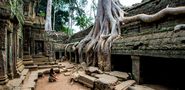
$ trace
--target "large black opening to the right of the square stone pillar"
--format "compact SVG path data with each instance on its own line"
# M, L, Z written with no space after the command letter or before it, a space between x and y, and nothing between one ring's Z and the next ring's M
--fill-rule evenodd
M185 60L158 57L141 57L140 71L142 83L158 84L182 90L185 80Z

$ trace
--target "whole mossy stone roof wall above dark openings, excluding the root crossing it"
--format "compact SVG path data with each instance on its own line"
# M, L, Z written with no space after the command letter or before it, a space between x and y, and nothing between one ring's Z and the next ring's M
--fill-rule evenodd
M167 5L182 6L183 0L149 0L127 10L127 16L140 13L154 14ZM121 27L122 38L112 46L112 54L141 55L167 58L184 57L184 36L182 30L174 31L174 27L185 23L184 15L168 15L161 20L144 23L131 22Z

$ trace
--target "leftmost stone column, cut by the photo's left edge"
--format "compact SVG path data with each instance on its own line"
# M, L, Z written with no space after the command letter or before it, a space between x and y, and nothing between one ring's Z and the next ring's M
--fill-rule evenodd
M8 81L7 77L7 29L5 21L0 20L0 84L6 84Z

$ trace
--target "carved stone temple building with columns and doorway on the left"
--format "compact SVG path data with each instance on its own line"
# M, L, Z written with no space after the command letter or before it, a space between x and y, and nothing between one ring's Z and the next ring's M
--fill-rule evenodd
M45 20L36 12L38 0L23 0L24 24L12 17L9 0L0 1L0 84L20 78L19 86L30 68L37 65L34 60L52 60L53 40L44 31ZM45 38L46 37L46 38ZM14 84L14 83L13 83ZM15 85L16 87L16 85Z

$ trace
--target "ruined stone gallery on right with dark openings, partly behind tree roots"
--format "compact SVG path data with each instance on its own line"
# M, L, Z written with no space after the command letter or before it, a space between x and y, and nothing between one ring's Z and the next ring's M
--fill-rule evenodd
M152 15L162 9L184 4L182 0L144 0L132 8L124 9L128 13L125 17L142 13ZM184 23L184 14L179 14L165 15L149 23L138 20L122 25L122 37L112 44L112 70L132 73L139 84L183 87L179 81L185 80ZM69 43L80 41L90 29L73 35ZM72 62L79 63L72 45L64 49Z

